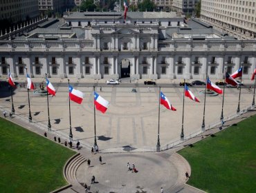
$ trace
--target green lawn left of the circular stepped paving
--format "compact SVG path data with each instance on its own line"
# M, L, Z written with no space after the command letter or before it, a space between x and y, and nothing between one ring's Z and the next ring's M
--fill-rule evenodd
M51 192L75 152L0 118L0 192Z

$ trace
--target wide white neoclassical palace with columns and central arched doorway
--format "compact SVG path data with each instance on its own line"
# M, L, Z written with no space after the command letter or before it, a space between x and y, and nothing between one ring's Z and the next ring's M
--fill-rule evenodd
M244 65L249 79L255 64L255 40L174 12L67 12L0 34L0 77L222 79Z

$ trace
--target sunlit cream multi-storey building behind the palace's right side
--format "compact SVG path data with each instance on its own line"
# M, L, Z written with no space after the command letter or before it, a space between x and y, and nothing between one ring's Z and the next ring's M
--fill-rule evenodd
M256 39L255 0L201 0L201 19L238 39Z

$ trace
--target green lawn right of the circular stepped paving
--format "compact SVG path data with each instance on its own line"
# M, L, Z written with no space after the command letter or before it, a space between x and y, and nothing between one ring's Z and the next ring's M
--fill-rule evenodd
M188 184L205 192L256 191L256 116L179 152L191 165Z

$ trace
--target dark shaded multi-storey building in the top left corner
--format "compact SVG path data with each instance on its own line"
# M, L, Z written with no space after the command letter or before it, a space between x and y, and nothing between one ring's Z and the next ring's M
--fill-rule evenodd
M37 0L0 1L0 20L8 19L13 23L25 21L27 17L39 16Z

